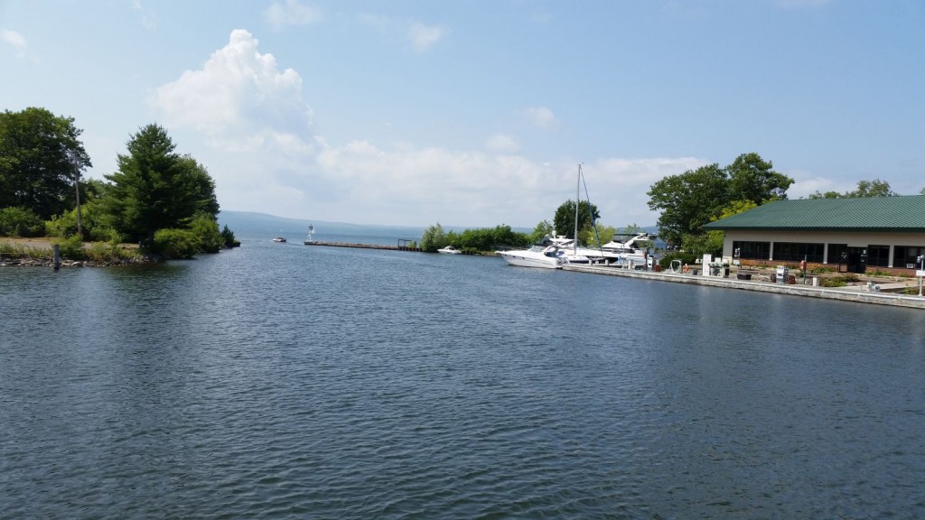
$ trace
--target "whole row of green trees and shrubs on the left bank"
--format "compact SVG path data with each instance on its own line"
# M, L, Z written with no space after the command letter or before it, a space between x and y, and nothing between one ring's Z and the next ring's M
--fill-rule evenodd
M80 179L93 166L81 133L44 108L0 114L0 235L137 242L171 258L237 243L218 229L215 181L163 127L131 135L105 180Z

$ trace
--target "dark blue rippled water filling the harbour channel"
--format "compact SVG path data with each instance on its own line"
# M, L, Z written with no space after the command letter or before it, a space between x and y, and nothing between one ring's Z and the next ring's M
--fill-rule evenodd
M925 517L920 311L268 238L0 268L0 517Z

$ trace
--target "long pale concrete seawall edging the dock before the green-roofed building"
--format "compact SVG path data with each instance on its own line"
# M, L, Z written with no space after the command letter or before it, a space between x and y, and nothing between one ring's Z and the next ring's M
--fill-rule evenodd
M724 289L738 289L741 291L775 292L777 294L808 296L812 298L824 298L826 300L841 300L843 302L875 303L878 305L925 309L925 297L923 296L868 291L866 285L847 286L844 288L813 287L807 285L787 285L752 280L705 277L672 272L656 273L651 271L635 271L605 266L564 266L563 269L596 275L650 279L674 283L690 283L709 287L722 287Z

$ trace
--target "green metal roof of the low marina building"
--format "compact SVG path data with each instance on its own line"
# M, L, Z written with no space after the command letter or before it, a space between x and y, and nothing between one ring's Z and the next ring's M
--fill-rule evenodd
M925 195L775 201L703 228L925 232Z

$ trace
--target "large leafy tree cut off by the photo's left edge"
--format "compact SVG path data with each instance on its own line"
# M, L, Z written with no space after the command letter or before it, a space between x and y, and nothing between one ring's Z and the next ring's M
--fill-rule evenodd
M72 206L75 179L93 166L82 131L44 108L0 114L0 208L28 208L46 220Z

